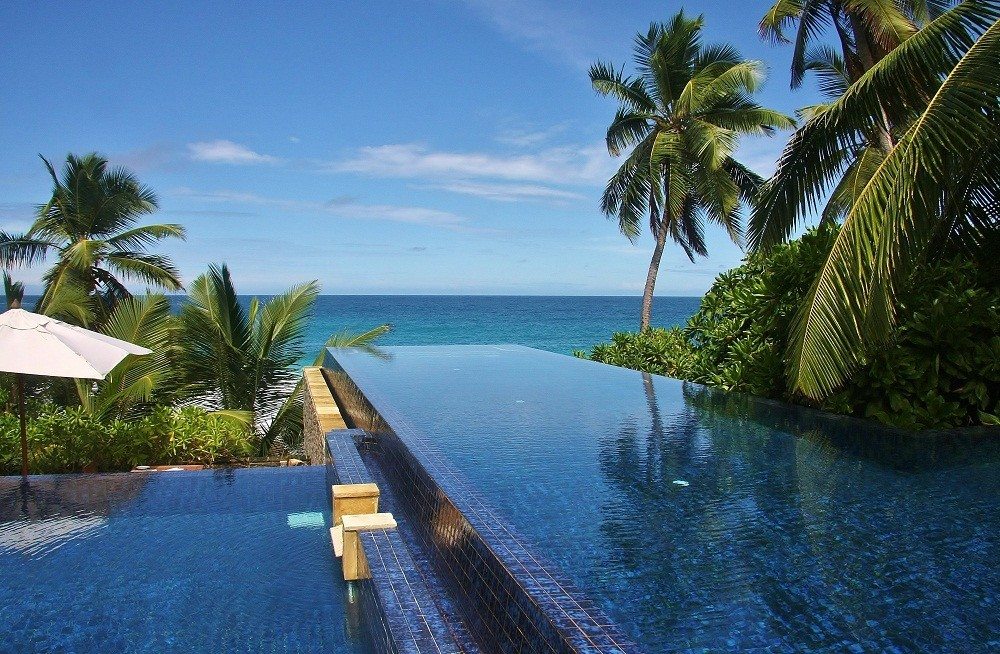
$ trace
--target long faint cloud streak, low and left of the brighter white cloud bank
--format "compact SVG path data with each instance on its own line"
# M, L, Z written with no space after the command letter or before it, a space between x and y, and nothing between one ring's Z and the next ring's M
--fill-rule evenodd
M469 222L468 218L448 211L404 205L365 204L349 197L333 198L327 202L316 202L311 200L272 198L257 193L228 189L197 191L188 187L172 189L168 194L174 197L227 205L270 207L290 213L325 214L347 219L386 220L413 225L440 227L455 231L475 231L474 228L466 224Z

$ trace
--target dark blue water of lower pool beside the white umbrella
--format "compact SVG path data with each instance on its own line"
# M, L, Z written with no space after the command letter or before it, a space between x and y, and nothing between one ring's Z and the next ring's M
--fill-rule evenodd
M322 468L0 478L0 652L364 652Z

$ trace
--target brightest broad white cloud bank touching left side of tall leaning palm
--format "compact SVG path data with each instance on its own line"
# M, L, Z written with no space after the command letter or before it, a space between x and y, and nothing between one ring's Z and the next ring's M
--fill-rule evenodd
M332 172L432 181L494 179L561 185L603 184L614 162L602 145L554 147L523 155L430 150L417 143L361 148Z

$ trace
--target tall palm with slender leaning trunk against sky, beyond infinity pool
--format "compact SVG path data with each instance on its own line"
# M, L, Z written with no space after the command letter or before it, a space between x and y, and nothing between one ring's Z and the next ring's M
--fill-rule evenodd
M630 241L647 219L656 240L642 300L641 329L649 327L660 259L668 237L690 259L707 254L706 221L741 239L741 208L761 178L733 153L744 134L771 134L792 120L753 100L763 65L741 59L728 45L701 44L702 18L683 12L653 24L635 39L638 74L611 64L590 69L594 89L620 104L608 128L612 156L631 152L608 182L601 209L617 218Z

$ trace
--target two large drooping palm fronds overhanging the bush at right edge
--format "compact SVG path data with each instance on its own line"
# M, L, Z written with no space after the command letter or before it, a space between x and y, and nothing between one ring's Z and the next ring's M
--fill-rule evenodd
M790 339L790 386L835 390L889 337L897 289L943 253L1000 256L1000 6L963 2L928 23L813 114L762 190L749 241L766 248L814 211L838 153L887 115L898 137L857 176L842 227Z

